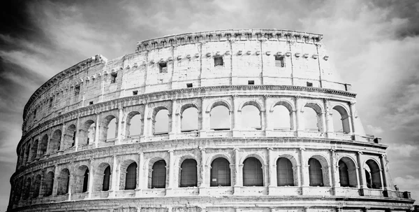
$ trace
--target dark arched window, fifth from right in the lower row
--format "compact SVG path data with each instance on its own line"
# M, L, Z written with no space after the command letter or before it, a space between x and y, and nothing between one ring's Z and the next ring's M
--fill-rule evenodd
M263 186L262 164L256 157L248 157L243 162L243 186Z

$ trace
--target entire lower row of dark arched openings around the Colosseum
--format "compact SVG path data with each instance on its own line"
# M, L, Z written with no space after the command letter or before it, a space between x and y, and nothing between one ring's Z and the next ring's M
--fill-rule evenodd
M297 165L293 158L279 157L276 164L277 171L277 186L297 186ZM328 165L321 157L311 157L307 162L309 174L309 186L330 186L327 181L328 173L325 171ZM126 160L120 164L119 186L117 190L135 190L138 188L138 164L133 160ZM48 197L53 195L53 188L57 186L57 195L66 195L72 193L82 193L89 190L93 192L108 191L112 188L112 169L110 164L101 163L94 171L94 174L89 172L86 165L81 165L75 169L71 175L69 169L64 168L59 172L57 178L54 177L54 171L49 171L45 180L41 174L34 178L28 177L22 184L22 178L15 185L15 201L19 201L36 197ZM230 165L229 160L224 157L216 157L212 160L210 165L210 187L232 186L234 178L233 166ZM338 162L339 170L339 185L341 187L358 187L357 167L353 160L349 157L342 157ZM186 158L179 166L179 188L196 187L198 186L198 162L192 158ZM381 169L374 160L367 160L365 166L365 178L367 188L379 189L381 188ZM257 157L247 157L242 162L242 186L266 186L264 175L267 174L264 170L263 163ZM168 166L166 160L155 159L150 160L148 167L147 188L168 188ZM93 181L89 178L93 177ZM43 181L43 183L41 183ZM54 183L57 181L57 183ZM89 183L93 185L89 185ZM41 189L42 186L42 189ZM115 190L113 188L112 190Z

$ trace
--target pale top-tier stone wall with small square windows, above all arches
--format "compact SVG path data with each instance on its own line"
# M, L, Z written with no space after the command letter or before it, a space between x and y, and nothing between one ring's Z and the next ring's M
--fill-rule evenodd
M222 64L217 65L220 57ZM110 61L96 55L58 73L29 99L22 129L27 132L61 113L135 92L247 85L249 81L255 85L311 83L335 90L349 87L330 67L321 35L228 30L166 36L138 43L133 54Z

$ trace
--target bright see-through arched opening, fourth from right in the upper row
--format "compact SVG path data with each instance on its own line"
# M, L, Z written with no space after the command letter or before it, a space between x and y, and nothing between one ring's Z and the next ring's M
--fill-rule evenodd
M240 117L242 129L262 129L260 111L256 106L252 104L243 106Z

